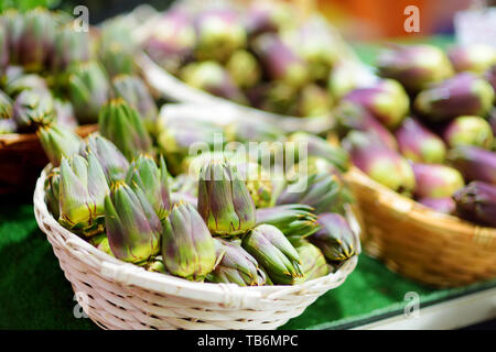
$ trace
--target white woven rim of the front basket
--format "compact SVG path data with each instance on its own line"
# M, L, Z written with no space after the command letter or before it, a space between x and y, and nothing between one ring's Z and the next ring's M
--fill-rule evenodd
M33 196L35 217L39 223L39 227L43 232L50 231L46 230L43 223L48 224L51 228L54 228L55 231L50 231L51 234L63 233L68 240L64 241L66 246L71 250L74 249L76 251L83 251L85 253L89 253L91 256L96 257L95 261L90 261L89 258L82 257L78 255L78 258L84 261L85 264L97 267L99 273L107 278L122 282L127 285L137 286L143 289L148 289L151 292L155 292L159 294L163 294L165 289L166 294L171 295L190 295L190 298L193 299L207 299L208 301L224 304L226 297L233 296L233 298L240 299L242 301L242 306L249 307L251 305L257 305L260 299L276 299L281 298L288 295L292 295L298 292L304 290L306 287L312 286L321 286L326 285L332 282L337 282L343 276L346 278L349 275L358 261L358 255L354 255L353 257L345 261L339 268L331 273L326 276L319 277L309 282L304 282L299 285L273 285L273 286L250 286L250 287L240 287L236 284L215 284L215 283L196 283L190 282L187 279L172 276L169 274L153 273L148 272L142 267L137 265L122 262L118 258L111 257L110 255L101 252L96 249L88 242L80 239L78 235L63 228L50 213L46 204L44 201L44 182L46 178L46 173L50 169L51 164L46 165L43 169L40 178L36 182L36 187ZM352 226L355 227L355 234L357 239L359 238L359 226L356 221L356 218L353 213L349 215L353 220ZM358 227L358 229L356 228ZM359 244L359 241L357 242ZM358 246L358 253L360 248ZM173 288L171 290L171 287ZM169 290L168 290L169 289ZM227 290L227 292L226 292ZM180 294L181 292L181 294ZM205 295L208 295L205 298Z

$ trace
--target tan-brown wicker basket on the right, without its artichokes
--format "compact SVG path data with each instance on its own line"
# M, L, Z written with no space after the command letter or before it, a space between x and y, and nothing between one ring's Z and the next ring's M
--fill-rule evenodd
M496 229L431 210L357 168L346 179L362 210L364 250L391 271L433 287L496 277Z

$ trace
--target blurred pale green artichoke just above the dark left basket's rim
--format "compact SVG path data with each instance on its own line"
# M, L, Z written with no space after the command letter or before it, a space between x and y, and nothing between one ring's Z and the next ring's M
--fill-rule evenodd
M23 90L13 105L13 120L21 131L45 127L55 120L52 95L44 90Z

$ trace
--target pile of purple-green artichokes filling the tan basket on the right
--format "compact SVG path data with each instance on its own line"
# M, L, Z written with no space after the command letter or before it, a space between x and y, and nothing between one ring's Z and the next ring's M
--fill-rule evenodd
M496 227L496 51L391 45L334 110L353 163L436 211Z

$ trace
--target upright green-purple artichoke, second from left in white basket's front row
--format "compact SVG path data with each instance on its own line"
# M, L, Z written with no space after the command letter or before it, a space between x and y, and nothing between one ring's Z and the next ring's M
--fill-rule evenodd
M162 226L140 188L123 182L111 185L105 197L105 228L114 255L125 262L140 263L159 254Z

